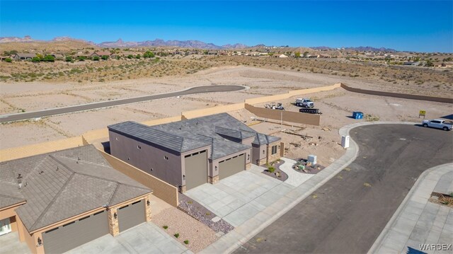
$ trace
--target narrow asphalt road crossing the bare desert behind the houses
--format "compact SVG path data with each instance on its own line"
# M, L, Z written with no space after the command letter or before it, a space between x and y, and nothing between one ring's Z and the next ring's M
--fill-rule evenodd
M195 94L195 93L214 93L214 92L231 92L231 91L239 91L244 89L243 86L197 86L190 88L184 91L176 91L171 93L161 93L151 96L141 96L135 98L126 98L120 100L108 100L103 101L100 103L90 103L84 105L75 105L65 108L54 108L50 110L40 110L35 112L24 112L19 114L13 115L0 115L0 122L14 122L20 120L27 120L37 117L47 117L50 115L60 115L66 114L70 112L79 112L84 110L93 110L96 108L107 108L117 105L124 105L128 103L139 103L142 101L147 100L156 100L161 98L169 98L169 97L176 97L176 96L186 96L188 94Z

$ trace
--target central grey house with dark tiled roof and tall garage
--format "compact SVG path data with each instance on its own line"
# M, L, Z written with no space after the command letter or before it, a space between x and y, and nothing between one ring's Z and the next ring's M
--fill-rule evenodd
M108 126L110 154L185 192L282 156L280 138L226 113L147 126Z

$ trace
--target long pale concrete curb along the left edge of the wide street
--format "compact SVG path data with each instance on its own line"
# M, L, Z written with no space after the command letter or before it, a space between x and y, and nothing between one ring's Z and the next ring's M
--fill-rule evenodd
M357 122L352 125L346 125L344 127L341 127L338 130L338 134L340 134L340 136L348 135L350 133L351 129L354 129L355 127L365 126L365 125L394 125L394 124L415 125L418 123L417 122ZM318 190L319 187L321 187L324 183L327 183L328 180L331 180L335 175L340 173L340 171L343 171L343 169L346 168L348 165L350 165L350 163L352 163L352 161L355 161L355 158L357 158L358 153L359 153L359 147L357 146L357 144L355 143L354 140L350 139L350 148L346 151L345 155L338 158L336 161L331 163L331 165L329 165L328 167L326 167L323 170L323 171L326 171L326 170L328 170L328 168L338 167L335 171L333 171L328 177L324 178L319 183L316 183L316 185L314 185L314 187L311 187L311 189L309 191L305 192L304 195L298 197L297 200L294 200L293 202L288 204L285 208L281 209L279 212L274 214L273 217L270 217L270 219L268 219L267 221L260 224L260 226L256 227L256 229L254 229L250 233L247 233L245 236L242 236L241 238L239 238L239 240L234 244L232 243L229 246L229 248L226 248L225 250L221 250L221 252L222 253L232 253L232 252L234 252L234 250L240 248L244 243L246 243L251 238L253 238L253 236L256 236L260 231L263 231L263 229L268 227L270 224L273 224L273 222L275 222L277 219L282 217L283 214L288 212L290 209L294 208L297 204L299 204L299 202L302 202L302 200L304 200L306 197L309 197L314 191ZM338 161L346 161L346 162L343 163L342 165L338 166L338 165L336 165L336 163L338 163ZM294 191L294 190L292 190L292 191ZM246 224L246 223L248 223L248 221L244 222L244 224ZM234 231L235 230L233 230L231 232L234 232ZM225 236L228 236L228 234L226 234ZM223 236L223 237L225 237L225 236ZM219 241L219 240L217 240L217 241ZM210 248L210 247L214 248L217 241L212 243L207 248ZM210 253L207 251L207 248L205 248L205 250L202 250L200 253Z

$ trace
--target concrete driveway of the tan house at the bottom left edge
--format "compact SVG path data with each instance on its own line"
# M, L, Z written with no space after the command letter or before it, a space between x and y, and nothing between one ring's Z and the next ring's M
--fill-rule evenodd
M67 253L192 253L153 223L135 226L113 237L98 238Z

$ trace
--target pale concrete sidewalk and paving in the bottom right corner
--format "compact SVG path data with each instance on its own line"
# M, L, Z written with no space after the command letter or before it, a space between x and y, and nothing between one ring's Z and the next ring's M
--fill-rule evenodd
M420 245L423 244L440 244L437 248L445 245L445 253L452 253L453 209L428 201L433 191L453 192L452 183L453 163L423 172L369 253L406 253L408 248L441 253L434 249L422 250Z

